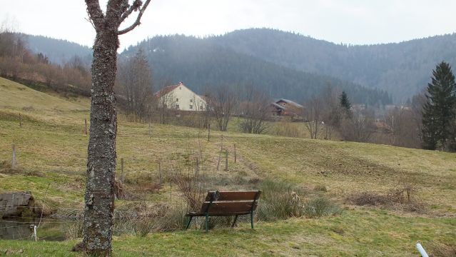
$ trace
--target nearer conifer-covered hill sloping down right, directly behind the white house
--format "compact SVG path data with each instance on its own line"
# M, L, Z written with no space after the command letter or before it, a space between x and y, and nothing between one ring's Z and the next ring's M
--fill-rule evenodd
M356 103L387 104L385 91L366 89L330 76L295 71L254 56L214 44L211 38L156 36L123 51L121 59L143 49L153 69L154 81L184 81L203 93L218 84L252 85L274 98L304 101L330 84L348 92Z

